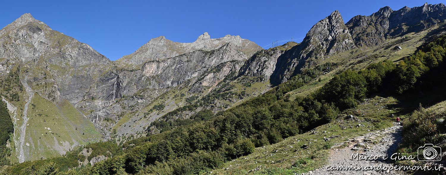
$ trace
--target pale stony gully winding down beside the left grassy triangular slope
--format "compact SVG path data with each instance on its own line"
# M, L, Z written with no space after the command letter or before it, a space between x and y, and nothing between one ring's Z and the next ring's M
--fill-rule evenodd
M25 162L25 151L23 147L25 145L26 124L28 123L28 106L34 97L34 91L31 89L31 87L29 87L28 83L26 83L26 77L25 80L22 80L22 84L25 87L26 93L28 94L28 102L26 102L25 107L23 108L23 123L20 126L19 163Z

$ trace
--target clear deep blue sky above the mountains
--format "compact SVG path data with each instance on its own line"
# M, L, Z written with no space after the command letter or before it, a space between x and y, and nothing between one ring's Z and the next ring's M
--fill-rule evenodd
M116 60L154 37L193 42L204 32L211 38L240 35L267 49L275 40L305 37L316 22L335 10L347 22L384 6L398 10L425 2L438 4L444 0L8 1L2 2L0 26L31 13L54 30Z

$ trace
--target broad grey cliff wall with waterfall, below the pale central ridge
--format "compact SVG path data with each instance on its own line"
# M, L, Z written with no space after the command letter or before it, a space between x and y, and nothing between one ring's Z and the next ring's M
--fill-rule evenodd
M197 95L205 94L228 74L238 73L247 59L243 52L236 49L235 44L227 43L212 51L197 50L160 61L147 61L141 69L109 71L103 73L98 83L92 85L86 98L76 107L83 111L94 110L88 118L95 126L107 131L103 134L108 137L113 122L104 121L105 118L119 121L124 114L137 112L161 94L176 88L187 88ZM132 120L136 119L139 118ZM134 124L132 120L117 128L118 134L143 129L129 128Z

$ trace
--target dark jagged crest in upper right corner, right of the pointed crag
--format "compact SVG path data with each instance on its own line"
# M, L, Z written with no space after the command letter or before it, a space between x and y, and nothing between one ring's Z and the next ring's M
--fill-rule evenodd
M375 46L387 38L419 32L446 19L444 4L427 4L421 7L403 7L393 11L381 8L370 16L355 16L347 22L355 44Z

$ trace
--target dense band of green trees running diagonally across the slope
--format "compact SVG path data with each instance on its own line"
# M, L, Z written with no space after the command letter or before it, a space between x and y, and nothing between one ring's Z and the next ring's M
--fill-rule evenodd
M404 94L445 83L444 79L435 78L445 75L445 48L446 36L423 45L398 63L382 61L359 71L346 70L310 95L295 100L286 97L289 91L316 81L318 73L327 67L322 65L217 114L202 110L189 119L179 119L182 121L172 120L167 114L152 123L152 126L161 128L160 134L133 139L122 147L115 141L87 145L85 148L92 148L94 155L112 155L94 166L68 171L77 167L78 159L91 159L79 158L79 148L64 157L8 167L7 174L200 174L225 161L248 155L255 147L281 142L331 122L343 110L357 106L376 92ZM185 106L176 112L194 107L197 105ZM416 124L412 122L411 125ZM110 153L104 153L106 151Z

